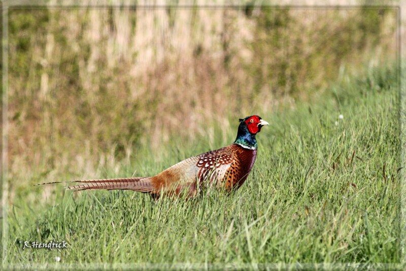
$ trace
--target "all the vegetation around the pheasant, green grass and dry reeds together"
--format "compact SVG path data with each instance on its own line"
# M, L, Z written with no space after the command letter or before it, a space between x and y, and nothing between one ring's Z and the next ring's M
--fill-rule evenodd
M9 14L9 262L399 260L396 9ZM272 126L231 197L31 187L152 175L254 113Z

